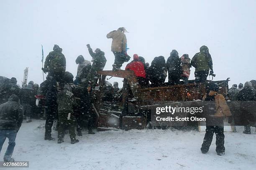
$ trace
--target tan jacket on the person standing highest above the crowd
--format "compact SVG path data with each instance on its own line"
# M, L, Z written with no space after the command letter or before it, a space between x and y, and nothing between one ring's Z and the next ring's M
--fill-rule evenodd
M112 38L111 51L126 52L127 40L125 34L121 30L109 32L107 38Z

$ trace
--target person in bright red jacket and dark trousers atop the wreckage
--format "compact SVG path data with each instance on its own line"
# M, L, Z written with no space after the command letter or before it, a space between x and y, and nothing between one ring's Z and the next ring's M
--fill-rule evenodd
M139 84L143 87L146 86L146 71L143 62L139 61L138 54L133 55L133 61L126 65L125 70L133 70L137 76Z

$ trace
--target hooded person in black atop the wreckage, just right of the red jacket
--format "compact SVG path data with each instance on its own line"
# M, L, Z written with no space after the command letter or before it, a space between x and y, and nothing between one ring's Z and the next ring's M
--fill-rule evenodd
M151 62L151 66L147 69L147 74L153 87L158 87L164 84L167 77L164 56L154 58Z

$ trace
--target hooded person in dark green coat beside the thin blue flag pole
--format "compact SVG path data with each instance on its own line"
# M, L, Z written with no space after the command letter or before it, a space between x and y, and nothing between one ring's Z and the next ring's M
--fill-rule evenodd
M66 58L62 54L62 48L60 48L59 45L54 45L53 51L49 52L42 70L44 73L48 72L57 82L62 82L66 71Z

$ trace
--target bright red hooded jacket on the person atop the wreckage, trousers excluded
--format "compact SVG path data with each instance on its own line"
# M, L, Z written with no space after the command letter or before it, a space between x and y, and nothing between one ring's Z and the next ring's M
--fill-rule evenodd
M146 71L143 62L138 60L137 54L133 55L133 61L126 65L125 70L133 70L137 77L146 78Z

